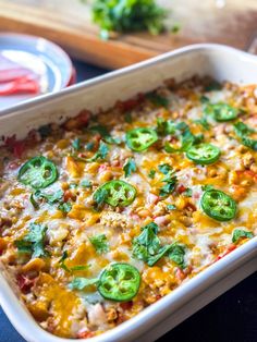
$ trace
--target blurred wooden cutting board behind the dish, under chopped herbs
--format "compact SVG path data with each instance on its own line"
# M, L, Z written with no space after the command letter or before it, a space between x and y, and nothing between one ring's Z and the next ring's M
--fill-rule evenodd
M167 25L178 34L119 35L103 41L91 23L90 1L0 0L0 30L51 39L71 56L115 69L194 42L221 42L246 49L257 32L257 0L159 0Z

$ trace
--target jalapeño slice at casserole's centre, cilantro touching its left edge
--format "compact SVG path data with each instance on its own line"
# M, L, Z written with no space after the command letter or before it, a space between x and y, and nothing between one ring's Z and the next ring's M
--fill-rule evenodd
M99 205L107 203L112 207L126 207L133 203L136 188L124 181L109 181L95 192L93 199Z

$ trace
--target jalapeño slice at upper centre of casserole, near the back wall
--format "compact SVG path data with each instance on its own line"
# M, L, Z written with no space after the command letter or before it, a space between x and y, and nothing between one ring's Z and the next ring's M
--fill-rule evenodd
M134 129L126 132L126 145L130 149L142 151L158 141L158 135L151 129Z

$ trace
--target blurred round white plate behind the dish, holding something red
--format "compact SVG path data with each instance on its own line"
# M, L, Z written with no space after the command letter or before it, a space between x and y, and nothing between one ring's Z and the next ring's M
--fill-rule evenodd
M59 91L70 85L73 77L73 66L69 56L56 44L40 37L1 33L0 58L37 74L40 94ZM38 94L0 96L0 110L35 96Z

